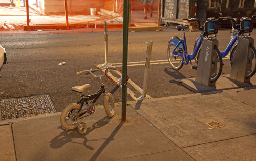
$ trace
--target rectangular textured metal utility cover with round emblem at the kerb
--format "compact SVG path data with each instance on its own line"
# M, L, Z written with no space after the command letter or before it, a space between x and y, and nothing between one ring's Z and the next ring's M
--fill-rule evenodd
M0 108L1 121L56 112L48 94L3 99Z

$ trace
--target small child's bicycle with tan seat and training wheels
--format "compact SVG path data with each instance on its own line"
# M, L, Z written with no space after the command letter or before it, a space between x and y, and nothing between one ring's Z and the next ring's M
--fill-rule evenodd
M108 93L105 91L104 84L102 83L102 79L101 79L102 76L106 75L109 69L119 70L117 68L107 67L107 68L94 69L94 70L83 70L76 73L76 75L79 75L85 72L89 72L92 76L99 77L101 87L99 88L97 93L92 95L81 95L82 98L77 103L72 103L66 106L66 108L62 111L60 116L60 122L63 128L67 130L72 130L77 126L79 126L78 127L79 133L81 134L85 133L87 129L86 125L80 124L82 122L82 118L87 117L95 112L96 106L94 103L98 100L98 98L101 95L102 95L102 103L103 103L106 115L108 115L109 117L114 116L114 112L115 112L114 98L111 93ZM92 73L98 70L105 70L105 73L103 75L95 75ZM90 84L75 86L75 87L72 87L72 90L82 93L90 86L91 86Z

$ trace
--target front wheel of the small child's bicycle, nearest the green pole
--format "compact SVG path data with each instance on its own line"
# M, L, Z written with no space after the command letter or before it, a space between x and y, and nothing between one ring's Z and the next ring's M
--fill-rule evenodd
M111 93L103 94L103 106L106 112L106 115L113 117L115 113L115 102Z

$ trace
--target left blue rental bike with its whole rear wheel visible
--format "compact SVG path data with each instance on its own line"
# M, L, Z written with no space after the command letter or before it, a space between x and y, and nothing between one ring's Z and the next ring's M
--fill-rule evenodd
M182 31L184 37L183 39L180 39L177 36L172 37L168 42L168 50L167 50L167 58L168 58L169 64L174 70L181 69L183 64L187 65L189 61L191 63L191 60L196 58L196 55L201 47L203 38L205 37L208 38L210 34L215 35L218 32L218 26L217 26L218 21L215 18L208 18L204 26L200 26L200 21L196 17L185 18L184 20L195 21L197 28L201 30L201 34L199 38L196 40L193 53L188 54L186 36L185 36L185 30L187 29L187 26L177 26L177 30ZM212 72L212 75L210 76L210 81L215 82L221 75L222 58L217 46L214 46L214 52L212 54L215 58L218 59L217 62L212 61L212 71L215 71L216 66L217 66L217 71ZM218 64L215 65L215 63L218 63Z

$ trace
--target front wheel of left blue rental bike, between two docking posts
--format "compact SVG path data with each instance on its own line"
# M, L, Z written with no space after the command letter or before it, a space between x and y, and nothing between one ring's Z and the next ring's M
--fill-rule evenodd
M212 59L211 59L211 75L210 82L213 83L217 81L217 79L221 76L222 72L222 57L219 49L214 46L214 50L212 51Z

